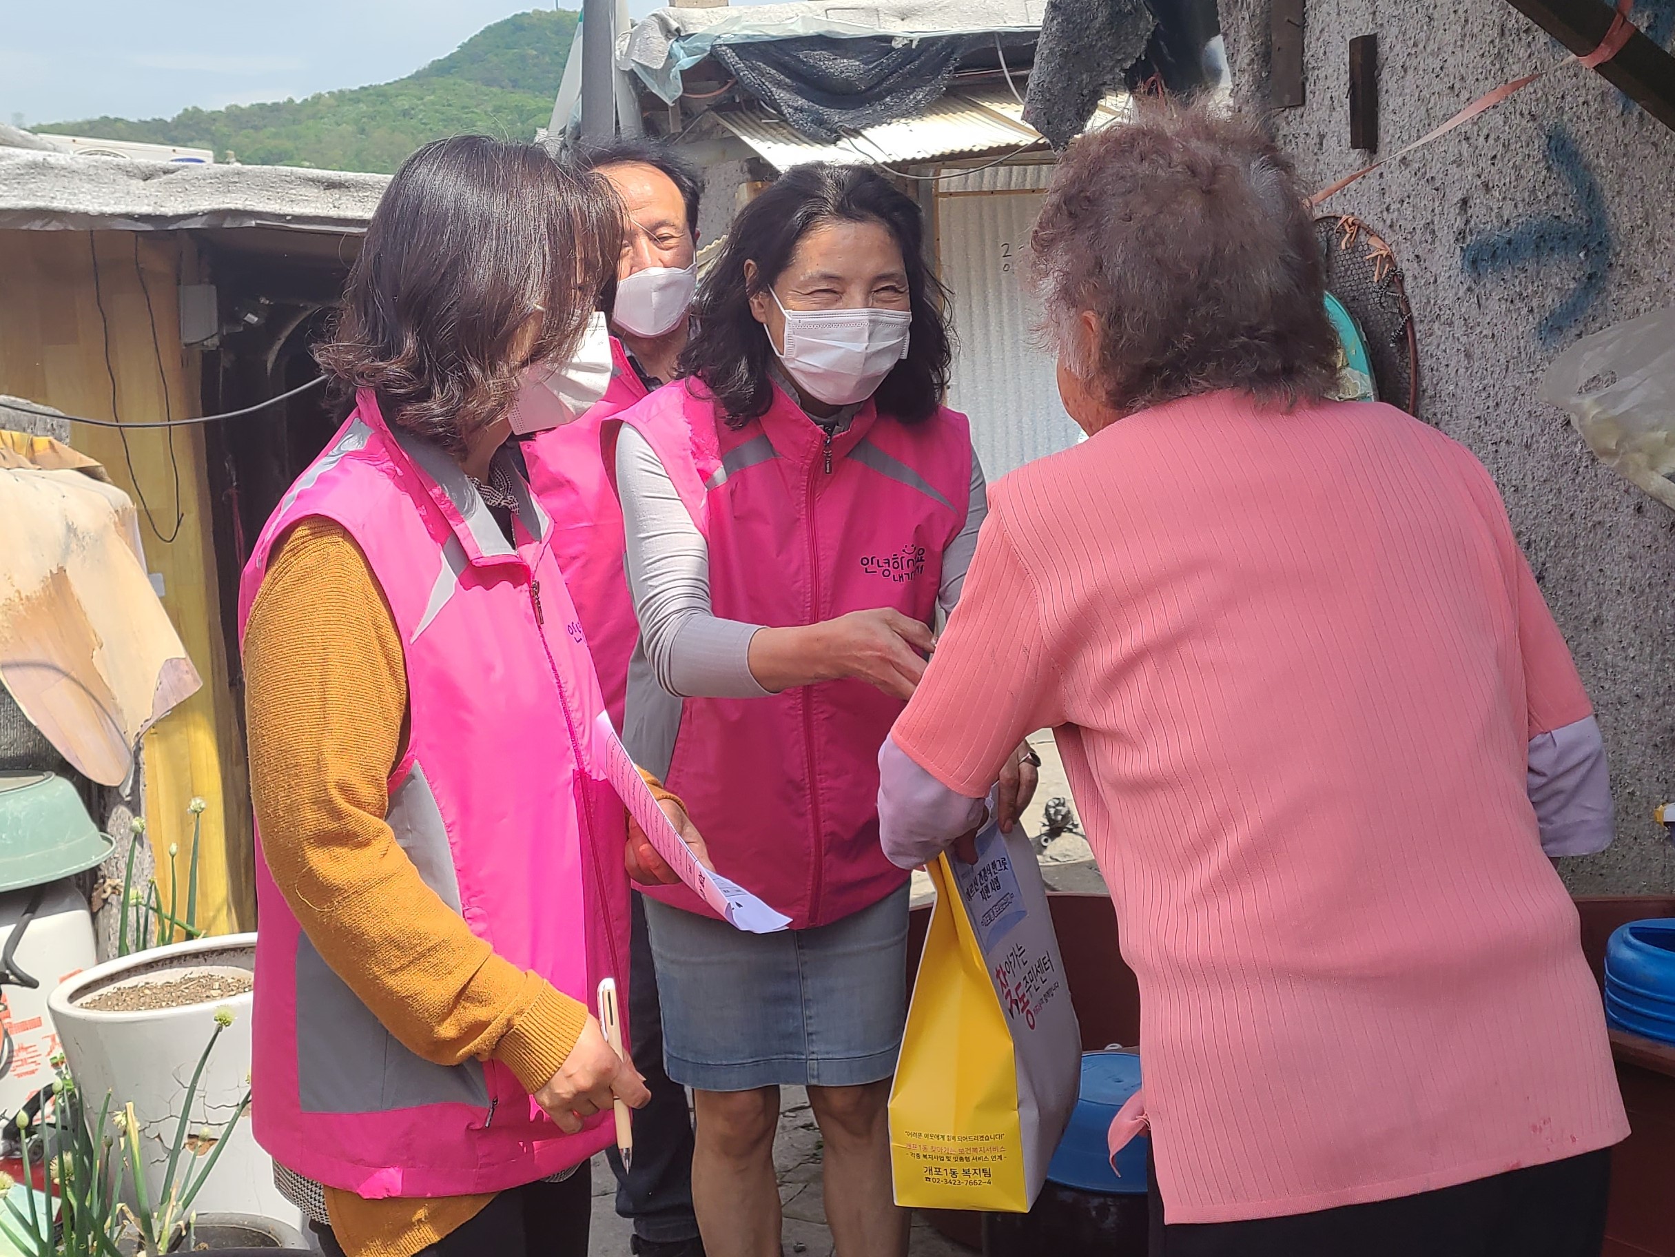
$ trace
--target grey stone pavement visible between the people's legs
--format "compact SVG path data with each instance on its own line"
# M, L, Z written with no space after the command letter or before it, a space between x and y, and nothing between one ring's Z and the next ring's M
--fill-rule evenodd
M832 1257L832 1234L826 1227L826 1200L821 1192L821 1133L802 1088L787 1086L781 1091L774 1168L786 1218L781 1232L786 1254ZM611 1168L603 1156L595 1156L590 1257L628 1257L628 1235L633 1229L616 1217L615 1198L616 1180L611 1178ZM972 1249L945 1240L915 1217L910 1257L972 1257Z

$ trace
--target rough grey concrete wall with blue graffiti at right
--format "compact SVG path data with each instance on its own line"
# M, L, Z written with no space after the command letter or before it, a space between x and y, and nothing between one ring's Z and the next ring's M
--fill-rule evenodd
M1234 96L1266 109L1268 0L1219 0ZM1675 0L1636 22L1665 47ZM1380 156L1564 49L1504 0L1306 0L1306 102L1271 126L1322 188L1348 146L1348 40L1379 35ZM1611 758L1616 843L1568 860L1578 893L1675 890L1652 821L1675 799L1675 515L1618 479L1539 399L1574 340L1675 303L1675 132L1573 64L1328 201L1379 231L1419 334L1420 417L1501 486Z

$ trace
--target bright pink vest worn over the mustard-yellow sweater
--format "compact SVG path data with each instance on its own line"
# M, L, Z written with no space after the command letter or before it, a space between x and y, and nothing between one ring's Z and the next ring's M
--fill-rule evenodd
M603 975L628 979L625 815L595 768L603 697L549 520L523 494L513 548L447 454L392 432L370 391L357 401L263 528L240 635L291 525L328 518L355 538L407 664L395 840L472 934L591 1007ZM256 905L251 1113L280 1165L368 1198L472 1195L611 1141L610 1115L563 1135L497 1061L407 1051L322 960L265 860Z

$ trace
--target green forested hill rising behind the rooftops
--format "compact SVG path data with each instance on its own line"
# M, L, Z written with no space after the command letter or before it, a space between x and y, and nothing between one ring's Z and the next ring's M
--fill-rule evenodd
M553 114L576 13L534 10L484 27L415 74L305 101L183 109L142 121L87 117L34 131L188 144L218 161L394 171L420 144L466 131L529 139Z

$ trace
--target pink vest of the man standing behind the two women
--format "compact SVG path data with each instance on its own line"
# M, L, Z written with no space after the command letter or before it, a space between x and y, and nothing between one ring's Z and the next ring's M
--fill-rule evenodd
M605 709L621 729L628 660L640 640L640 623L623 575L623 511L606 474L615 449L601 447L600 441L605 421L645 397L647 387L616 337L611 337L611 362L605 396L576 422L528 437L523 453L529 488L553 516L553 556L564 570L570 598L593 649Z

